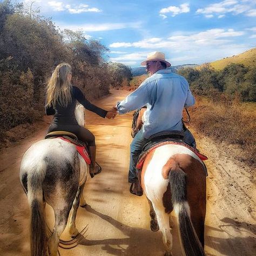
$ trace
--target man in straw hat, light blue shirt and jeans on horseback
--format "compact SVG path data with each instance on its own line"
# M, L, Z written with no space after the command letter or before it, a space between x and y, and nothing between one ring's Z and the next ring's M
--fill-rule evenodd
M130 146L129 183L132 183L130 191L137 196L141 196L143 192L136 176L136 164L150 136L161 131L183 131L184 141L196 147L194 137L181 120L184 107L192 106L195 102L187 80L166 69L171 64L165 60L162 52L149 53L141 65L146 65L150 77L116 105L118 114L147 106L143 127Z

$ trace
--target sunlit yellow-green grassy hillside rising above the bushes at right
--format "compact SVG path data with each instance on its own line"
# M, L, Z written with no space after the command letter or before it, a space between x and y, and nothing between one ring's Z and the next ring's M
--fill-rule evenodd
M221 70L231 63L244 64L245 66L256 66L256 48L242 52L238 55L233 55L232 57L215 60L215 62L211 62L211 65L214 69Z

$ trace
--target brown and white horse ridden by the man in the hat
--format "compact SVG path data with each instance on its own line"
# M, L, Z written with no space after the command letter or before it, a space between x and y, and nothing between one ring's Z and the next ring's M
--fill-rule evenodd
M132 136L143 124L142 109L133 119ZM142 169L142 186L150 205L151 230L163 234L165 255L172 255L169 218L177 214L183 253L204 253L204 221L206 212L206 175L204 165L187 147L167 144L147 154Z

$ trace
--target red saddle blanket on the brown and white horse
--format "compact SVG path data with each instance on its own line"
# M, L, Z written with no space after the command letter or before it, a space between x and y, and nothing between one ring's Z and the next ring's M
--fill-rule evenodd
M139 170L139 169L142 169L143 167L143 163L144 163L144 160L147 156L147 154L156 149L157 147L160 147L160 146L163 146L163 145L167 145L167 144L174 144L174 145L181 145L181 146L184 146L184 147L187 147L188 149L190 149L191 151L193 151L199 158L200 160L204 161L204 160L207 160L208 158L204 155L204 154L201 154L199 153L196 149L194 149L194 147L191 147L190 145L187 145L186 143L183 143L183 142L174 142L172 140L169 140L167 142L160 142L154 146L152 146L149 150L143 152L140 157L139 157L139 160L138 160L138 163L136 165L136 168Z

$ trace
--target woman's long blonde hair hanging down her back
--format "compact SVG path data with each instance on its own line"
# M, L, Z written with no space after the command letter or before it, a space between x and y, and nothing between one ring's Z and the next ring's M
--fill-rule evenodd
M46 106L67 106L71 101L71 83L68 75L71 66L68 63L60 63L52 72L46 87Z

